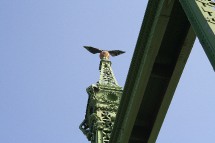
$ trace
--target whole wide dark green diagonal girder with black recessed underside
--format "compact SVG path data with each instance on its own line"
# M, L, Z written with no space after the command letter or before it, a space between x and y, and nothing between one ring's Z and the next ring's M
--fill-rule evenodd
M110 143L154 143L195 33L177 0L149 0Z

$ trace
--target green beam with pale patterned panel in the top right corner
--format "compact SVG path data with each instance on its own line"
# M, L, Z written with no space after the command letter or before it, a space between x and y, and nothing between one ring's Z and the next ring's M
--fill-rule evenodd
M215 70L215 2L180 0L192 27Z

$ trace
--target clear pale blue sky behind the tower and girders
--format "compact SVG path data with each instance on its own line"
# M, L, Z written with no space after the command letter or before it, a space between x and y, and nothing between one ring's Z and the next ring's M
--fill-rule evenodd
M147 1L1 0L0 143L87 143L79 130L99 58L124 86ZM196 40L157 143L215 142L215 75Z

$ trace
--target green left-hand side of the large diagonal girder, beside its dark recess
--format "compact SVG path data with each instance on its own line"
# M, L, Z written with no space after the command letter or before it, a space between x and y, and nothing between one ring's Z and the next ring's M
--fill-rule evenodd
M149 0L148 2L136 45L138 48L135 49L130 65L110 143L128 143L129 141L141 105L141 93L147 86L149 74L159 50L161 37L163 37L166 28L166 25L157 25L163 1ZM155 33L155 29L161 30L161 32ZM152 41L157 42L152 43ZM144 72L142 72L143 70Z

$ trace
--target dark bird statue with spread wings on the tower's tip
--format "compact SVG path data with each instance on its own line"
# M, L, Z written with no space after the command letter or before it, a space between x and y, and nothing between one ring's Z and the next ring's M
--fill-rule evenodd
M87 49L90 53L92 54L96 54L96 53L100 53L100 59L109 59L110 58L110 55L115 57L115 56L118 56L120 54L123 54L125 53L124 51L120 51L120 50L111 50L111 51L108 51L108 50L100 50L100 49L97 49L97 48L94 48L94 47L91 47L91 46L84 46L85 49Z

